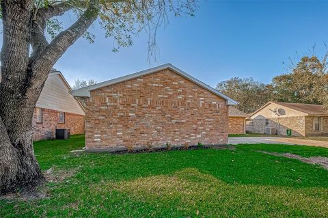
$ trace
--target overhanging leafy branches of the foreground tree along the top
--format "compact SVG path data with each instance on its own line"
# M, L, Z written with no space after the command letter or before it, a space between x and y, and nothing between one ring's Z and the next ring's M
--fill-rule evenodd
M91 7L94 10L85 13ZM156 30L168 24L168 13L194 16L196 8L195 0L33 0L33 19L43 16L46 22L41 29L45 25L46 32L54 39L63 30L58 16L69 11L77 18L83 14L97 14L105 36L114 40L113 51L118 51L121 46L131 46L133 35L146 31L152 55L156 49ZM96 37L92 31L84 31L82 36L90 42L94 42Z

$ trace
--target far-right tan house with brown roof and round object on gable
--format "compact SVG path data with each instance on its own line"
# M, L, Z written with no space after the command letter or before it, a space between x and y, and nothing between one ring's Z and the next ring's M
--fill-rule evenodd
M295 136L328 135L328 111L323 105L269 102L249 115L246 131L265 133L267 127L278 135L287 129Z

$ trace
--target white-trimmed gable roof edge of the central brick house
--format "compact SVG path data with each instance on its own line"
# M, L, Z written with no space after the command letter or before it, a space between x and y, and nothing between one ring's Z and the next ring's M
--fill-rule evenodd
M172 64L163 64L161 66L156 66L156 67L150 68L148 70L142 70L140 72L135 72L133 74L128 74L124 77L118 77L116 79L111 79L109 81L105 81L105 82L102 82L102 83L97 83L95 85L90 85L90 86L87 86L87 87L83 87L79 90L73 90L72 94L73 94L73 96L90 97L90 91L96 90L100 87L113 85L115 83L121 83L123 81L128 81L130 79L135 79L137 77L141 77L141 76L144 76L144 75L147 75L147 74L151 74L151 73L158 72L160 70L166 70L166 69L169 69L169 70L172 70L172 71L176 72L180 76L182 76L186 79L189 79L190 81L192 81L193 83L195 83L197 85L200 85L201 87L208 90L209 92L212 92L213 94L216 94L217 96L225 99L227 101L227 105L237 105L238 104L236 102L236 100L233 100L232 98L229 98L225 94L222 94L221 92L215 90L213 87L210 87L209 85L206 85L202 81L199 81L198 79L195 79L194 77L191 77L191 75L187 74L187 72L184 72L184 71L180 70L179 68L176 68L176 66L173 66Z

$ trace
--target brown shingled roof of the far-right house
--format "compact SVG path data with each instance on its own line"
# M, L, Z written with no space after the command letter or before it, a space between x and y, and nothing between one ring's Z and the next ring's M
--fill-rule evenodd
M323 107L323 105L313 105L313 104L304 104L304 103L282 103L282 102L269 102L265 105L263 105L260 109L255 111L254 113L251 113L249 117L254 115L255 113L258 113L258 111L262 110L264 107L267 107L269 104L276 104L281 105L283 107L287 107L289 109L292 109L294 111L299 111L303 113L304 115L328 115L328 110Z

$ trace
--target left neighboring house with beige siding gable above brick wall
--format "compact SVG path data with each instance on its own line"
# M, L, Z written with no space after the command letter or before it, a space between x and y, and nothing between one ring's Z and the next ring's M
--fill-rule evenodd
M70 134L84 133L85 111L70 92L61 72L51 70L33 113L34 141L53 139L56 128L69 128Z

